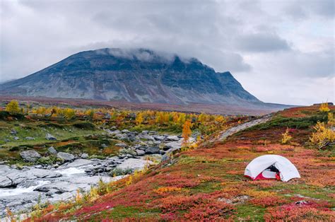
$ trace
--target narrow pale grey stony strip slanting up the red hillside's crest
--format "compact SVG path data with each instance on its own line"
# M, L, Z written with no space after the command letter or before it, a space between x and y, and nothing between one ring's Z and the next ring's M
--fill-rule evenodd
M268 122L271 119L271 115L264 115L263 117L259 119L254 119L249 122L245 122L243 124L237 125L236 127L231 127L227 129L226 131L221 132L220 136L218 136L218 139L212 140L211 142L215 141L223 141L225 140L228 136L231 136L237 132L240 132L244 129L247 129L249 127L254 127L257 124L261 124L264 122Z

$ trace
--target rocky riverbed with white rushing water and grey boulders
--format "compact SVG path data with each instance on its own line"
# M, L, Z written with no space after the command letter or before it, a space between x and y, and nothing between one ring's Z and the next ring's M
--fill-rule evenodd
M156 132L129 132L106 129L107 134L125 141L117 144L119 155L106 159L90 158L86 153L74 156L71 153L50 152L64 159L64 163L54 165L24 166L0 165L0 218L8 207L13 212L24 211L38 201L55 202L71 199L80 189L86 192L99 180L110 182L124 175L142 169L148 164L159 163L168 158L172 151L180 148L181 136L160 135ZM130 141L130 143L129 143ZM129 145L131 144L131 145ZM22 158L40 158L35 151L21 153ZM32 159L33 158L33 159ZM115 174L113 172L117 172ZM112 175L117 175L112 177Z

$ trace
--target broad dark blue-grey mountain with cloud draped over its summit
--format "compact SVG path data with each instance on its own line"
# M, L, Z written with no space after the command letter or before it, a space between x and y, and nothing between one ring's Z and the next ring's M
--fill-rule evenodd
M35 74L0 84L2 95L169 104L264 104L229 71L148 49L79 52Z

